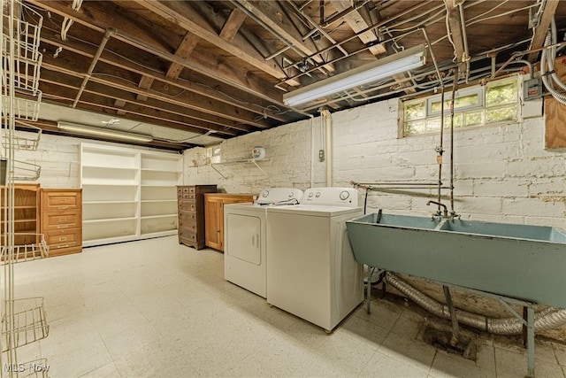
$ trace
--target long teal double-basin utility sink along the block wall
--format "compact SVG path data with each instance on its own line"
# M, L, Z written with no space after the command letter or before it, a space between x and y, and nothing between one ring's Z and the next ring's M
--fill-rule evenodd
M566 308L566 233L559 228L382 212L346 226L359 263Z

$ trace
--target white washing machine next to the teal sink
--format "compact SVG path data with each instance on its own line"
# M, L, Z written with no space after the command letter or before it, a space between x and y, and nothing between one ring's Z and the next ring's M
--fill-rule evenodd
M363 267L346 220L363 214L351 188L307 189L267 211L267 302L332 332L363 301Z

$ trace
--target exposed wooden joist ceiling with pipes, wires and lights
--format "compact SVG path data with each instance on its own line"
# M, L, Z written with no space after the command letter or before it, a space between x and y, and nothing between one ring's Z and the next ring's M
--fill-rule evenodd
M553 20L556 41L566 27L557 0L22 4L43 18L39 89L56 109L37 126L172 150L527 71Z

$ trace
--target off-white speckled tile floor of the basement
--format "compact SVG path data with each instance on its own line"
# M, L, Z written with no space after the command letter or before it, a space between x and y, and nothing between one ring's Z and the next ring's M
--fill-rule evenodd
M360 306L332 335L224 280L223 255L176 236L16 265L16 295L45 297L51 377L522 377L524 349L479 339L472 362L415 337L401 305ZM564 378L566 346L538 341L536 375Z

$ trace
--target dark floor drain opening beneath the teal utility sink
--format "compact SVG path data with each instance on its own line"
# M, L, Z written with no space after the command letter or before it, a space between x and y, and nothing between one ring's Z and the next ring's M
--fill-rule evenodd
M452 329L439 329L428 325L424 328L423 340L442 351L460 355L464 359L475 361L477 358L478 348L475 337L460 333L455 340L452 340Z

